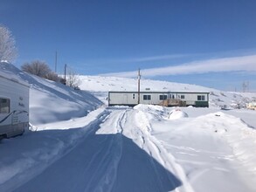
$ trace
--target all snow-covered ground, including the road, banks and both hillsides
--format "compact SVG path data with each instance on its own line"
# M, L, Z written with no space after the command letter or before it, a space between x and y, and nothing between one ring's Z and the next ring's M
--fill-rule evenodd
M87 91L74 92L1 66L31 84L37 131L0 142L0 191L256 190L256 111L219 107L255 93L143 80L151 90L210 91L211 107L107 107L88 90L104 101L107 91L133 89L135 79L85 76Z

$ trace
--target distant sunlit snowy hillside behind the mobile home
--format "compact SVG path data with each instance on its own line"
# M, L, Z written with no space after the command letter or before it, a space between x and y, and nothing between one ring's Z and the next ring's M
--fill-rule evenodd
M80 88L92 92L95 96L107 104L107 92L109 91L137 91L137 79L80 76ZM256 93L230 93L204 86L173 83L168 81L141 80L141 91L159 92L209 92L211 107L236 107L246 106L246 103L256 100Z

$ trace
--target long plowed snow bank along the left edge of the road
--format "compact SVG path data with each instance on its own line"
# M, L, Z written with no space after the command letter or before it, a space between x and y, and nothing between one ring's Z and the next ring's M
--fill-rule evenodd
M105 108L99 108L86 117L45 124L38 132L1 141L0 191L13 191L41 174L76 147L106 115Z

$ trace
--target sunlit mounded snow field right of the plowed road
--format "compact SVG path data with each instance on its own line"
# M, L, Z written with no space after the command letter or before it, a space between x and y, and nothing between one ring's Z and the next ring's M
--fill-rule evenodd
M255 191L256 129L231 111L183 107L190 118L145 120L158 113L148 109L137 121L173 155L194 191Z

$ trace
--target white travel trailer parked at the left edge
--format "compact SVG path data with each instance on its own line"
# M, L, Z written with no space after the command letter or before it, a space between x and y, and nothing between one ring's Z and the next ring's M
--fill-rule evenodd
M10 138L29 127L30 86L6 72L0 72L0 137Z

